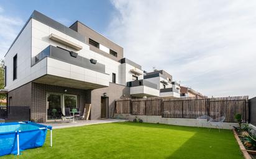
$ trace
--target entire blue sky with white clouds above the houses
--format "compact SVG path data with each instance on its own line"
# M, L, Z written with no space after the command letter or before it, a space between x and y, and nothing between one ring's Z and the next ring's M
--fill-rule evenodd
M256 96L256 1L0 1L0 58L34 10L76 20L209 97Z

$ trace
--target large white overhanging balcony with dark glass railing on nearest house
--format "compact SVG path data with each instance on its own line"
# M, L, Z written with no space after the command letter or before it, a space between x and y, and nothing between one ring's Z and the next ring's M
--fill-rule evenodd
M105 73L104 64L95 59L86 59L73 51L50 45L35 56L32 67L39 64L47 67L47 71L34 82L80 89L109 86L109 74Z

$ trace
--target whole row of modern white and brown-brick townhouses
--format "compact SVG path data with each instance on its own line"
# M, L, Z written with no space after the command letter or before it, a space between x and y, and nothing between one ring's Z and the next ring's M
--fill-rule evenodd
M31 119L47 122L53 110L61 118L86 104L90 119L111 118L116 99L180 97L179 88L165 71L144 74L121 46L81 22L66 27L34 11L5 55L1 93L7 109L29 106Z

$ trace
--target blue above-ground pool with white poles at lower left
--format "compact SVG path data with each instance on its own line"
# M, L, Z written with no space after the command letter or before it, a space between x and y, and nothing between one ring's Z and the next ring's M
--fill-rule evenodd
M35 122L0 123L0 156L19 155L29 148L42 147L47 129L50 129L50 145L52 146L52 126Z

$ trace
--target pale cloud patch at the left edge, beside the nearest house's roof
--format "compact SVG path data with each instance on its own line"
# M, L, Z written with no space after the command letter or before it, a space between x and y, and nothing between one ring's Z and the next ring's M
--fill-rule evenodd
M0 6L0 24L0 59L2 59L17 37L24 22L19 17L4 14L4 9Z

